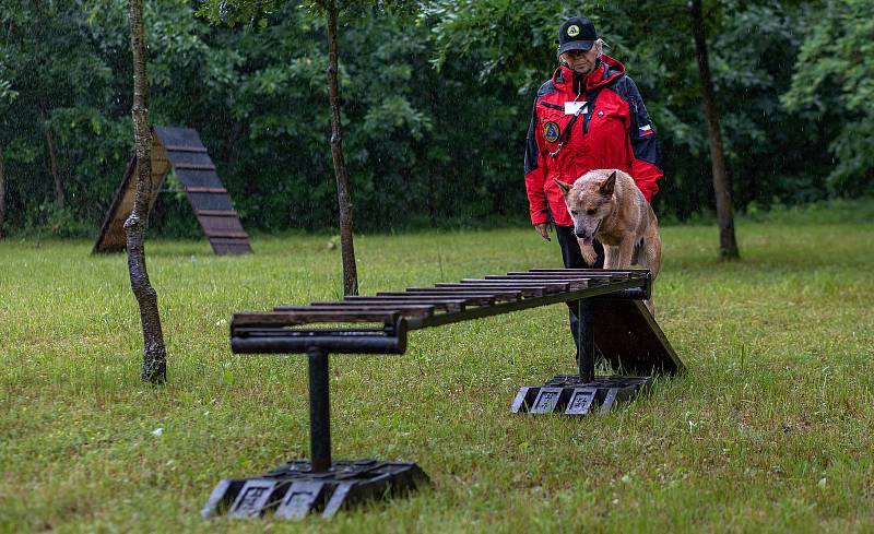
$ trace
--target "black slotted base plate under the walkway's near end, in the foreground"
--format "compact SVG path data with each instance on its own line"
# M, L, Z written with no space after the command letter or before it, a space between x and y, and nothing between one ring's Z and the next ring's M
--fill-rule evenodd
M273 512L294 519L320 512L330 518L343 507L404 495L427 483L428 476L414 463L339 461L330 471L312 473L308 461L293 460L261 477L220 482L200 514L260 518Z

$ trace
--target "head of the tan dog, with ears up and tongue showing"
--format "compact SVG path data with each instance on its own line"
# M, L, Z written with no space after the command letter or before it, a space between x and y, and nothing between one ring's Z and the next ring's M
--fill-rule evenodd
M553 178L565 195L565 204L574 219L574 234L586 245L591 245L601 223L613 212L616 171L588 173L574 185Z

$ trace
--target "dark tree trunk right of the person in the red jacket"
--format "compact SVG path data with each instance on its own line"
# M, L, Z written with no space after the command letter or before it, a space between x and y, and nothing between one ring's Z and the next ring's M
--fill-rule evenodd
M713 97L713 81L707 58L701 0L689 2L692 32L695 35L695 52L698 56L698 74L701 80L704 112L707 116L707 134L710 139L710 161L713 168L713 191L717 200L717 221L719 223L719 256L723 260L741 257L734 237L734 207L731 202L731 180L725 170L725 154L722 149L722 134L719 130L719 111Z

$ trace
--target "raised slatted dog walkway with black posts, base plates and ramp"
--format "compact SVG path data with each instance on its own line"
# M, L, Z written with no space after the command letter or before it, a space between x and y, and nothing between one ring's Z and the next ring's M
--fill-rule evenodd
M649 388L649 375L684 368L641 301L650 298L651 290L646 270L535 269L235 313L231 323L234 353L308 356L310 459L290 461L258 477L221 480L201 515L271 512L300 518L318 511L331 517L342 507L402 495L427 482L415 463L333 461L329 353L403 354L409 333L418 329L564 302L580 319L579 373L556 376L542 387L523 387L511 411L586 415L600 406L604 412ZM556 328L556 335L566 332ZM595 377L599 353L614 370L635 376Z

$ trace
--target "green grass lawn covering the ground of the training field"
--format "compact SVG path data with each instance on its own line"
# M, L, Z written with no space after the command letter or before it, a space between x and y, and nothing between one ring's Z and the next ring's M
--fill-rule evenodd
M796 218L742 222L735 263L716 261L714 228L663 229L659 321L688 373L610 415L508 412L572 369L563 306L334 356L334 458L415 461L434 484L328 522L198 515L218 479L308 455L304 358L234 356L227 321L340 297L327 237L256 238L246 258L150 241L157 389L139 380L125 257L2 242L0 531L871 532L874 223ZM530 229L355 245L363 294L559 263Z

